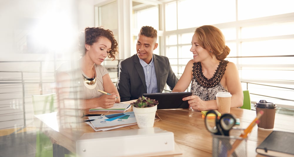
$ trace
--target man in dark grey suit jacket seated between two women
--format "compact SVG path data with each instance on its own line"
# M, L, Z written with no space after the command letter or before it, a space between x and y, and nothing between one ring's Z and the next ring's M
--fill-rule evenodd
M118 65L117 89L121 102L138 99L143 93L162 92L167 84L171 90L178 78L167 57L153 54L157 48L157 31L143 26L138 34L137 53Z

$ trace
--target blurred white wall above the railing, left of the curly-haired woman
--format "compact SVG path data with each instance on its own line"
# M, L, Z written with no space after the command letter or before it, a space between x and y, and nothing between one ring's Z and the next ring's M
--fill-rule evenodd
M54 53L67 59L75 33L94 27L93 5L93 0L0 1L0 61L54 60ZM30 44L35 53L27 52Z

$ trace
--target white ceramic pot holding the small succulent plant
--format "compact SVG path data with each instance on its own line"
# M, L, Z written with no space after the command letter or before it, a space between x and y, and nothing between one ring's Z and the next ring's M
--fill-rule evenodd
M135 118L139 128L151 128L154 125L157 105L149 108L133 107Z

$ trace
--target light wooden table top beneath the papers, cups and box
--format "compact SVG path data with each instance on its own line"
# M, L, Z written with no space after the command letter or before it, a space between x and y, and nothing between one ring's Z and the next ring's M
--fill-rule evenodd
M88 111L85 111L85 113L88 113ZM103 112L91 112L91 114L99 113L101 114ZM201 112L191 109L170 109L157 110L157 113L161 120L155 122L154 127L174 133L175 142L183 152L180 156L195 156L197 154L201 156L212 156L212 135L205 127ZM256 117L254 110L231 108L230 113L233 114L235 118L240 119L240 125L235 126L242 129L247 128ZM56 119L56 113L36 115L36 117L35 119L37 119L37 121L39 120L45 123L42 130L51 137L54 143L64 146L72 152L76 152L76 140L81 137L83 133L95 132L93 128L86 123L79 123L77 128L72 126L58 127L56 120L53 120L54 118ZM255 149L273 130L294 132L293 121L294 116L276 114L274 129L262 129L255 125L252 132L248 135L247 156L262 156L257 154ZM54 122L56 123L55 126L52 124ZM138 125L130 125L113 130L137 128Z

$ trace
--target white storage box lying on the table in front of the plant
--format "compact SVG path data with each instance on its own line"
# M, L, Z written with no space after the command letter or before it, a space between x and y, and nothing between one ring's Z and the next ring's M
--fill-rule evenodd
M83 134L76 141L76 153L89 156L148 156L174 152L173 132L140 128Z

